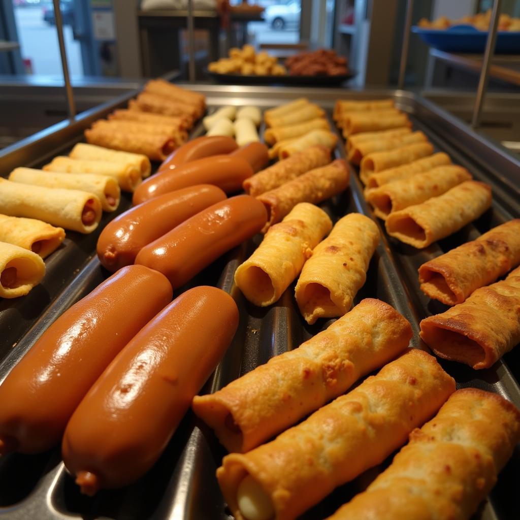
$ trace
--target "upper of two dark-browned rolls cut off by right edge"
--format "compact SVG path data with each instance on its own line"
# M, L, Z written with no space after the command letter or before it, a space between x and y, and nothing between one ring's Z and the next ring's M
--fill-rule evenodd
M455 305L519 264L520 218L516 218L424 263L419 267L421 291Z

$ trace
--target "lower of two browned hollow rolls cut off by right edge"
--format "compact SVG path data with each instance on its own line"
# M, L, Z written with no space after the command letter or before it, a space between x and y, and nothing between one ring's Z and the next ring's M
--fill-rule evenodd
M445 313L421 321L421 337L445 359L489 368L520 343L520 267Z

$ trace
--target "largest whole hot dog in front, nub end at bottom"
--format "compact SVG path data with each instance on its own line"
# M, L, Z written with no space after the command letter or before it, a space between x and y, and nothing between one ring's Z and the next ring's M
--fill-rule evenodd
M63 436L67 469L86 495L150 469L238 326L233 298L215 287L181 294L96 381Z

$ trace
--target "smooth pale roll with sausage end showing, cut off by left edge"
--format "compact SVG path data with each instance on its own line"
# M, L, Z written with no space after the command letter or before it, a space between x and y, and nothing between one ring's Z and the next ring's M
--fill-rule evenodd
M36 218L53 226L90 233L101 219L101 202L94 193L44 188L0 179L0 213Z

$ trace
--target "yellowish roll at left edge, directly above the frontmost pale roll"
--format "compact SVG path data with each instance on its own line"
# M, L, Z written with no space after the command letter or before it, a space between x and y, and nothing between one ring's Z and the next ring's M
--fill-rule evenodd
M41 220L0 215L0 242L28 249L42 258L56 251L64 238L63 228Z

